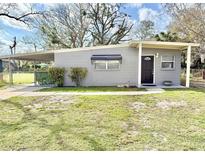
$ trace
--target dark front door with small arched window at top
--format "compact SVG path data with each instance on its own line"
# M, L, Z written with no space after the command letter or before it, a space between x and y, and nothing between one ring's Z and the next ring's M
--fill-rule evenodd
M153 83L154 56L142 56L142 83Z

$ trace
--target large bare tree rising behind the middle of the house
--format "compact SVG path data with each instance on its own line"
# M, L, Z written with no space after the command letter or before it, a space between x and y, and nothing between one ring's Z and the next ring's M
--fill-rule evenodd
M118 4L89 4L86 16L91 19L94 45L118 44L133 26Z

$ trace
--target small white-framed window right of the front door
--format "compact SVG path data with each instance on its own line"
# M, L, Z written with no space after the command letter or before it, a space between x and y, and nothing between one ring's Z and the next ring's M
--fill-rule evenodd
M162 56L161 57L161 68L166 70L174 69L175 56Z

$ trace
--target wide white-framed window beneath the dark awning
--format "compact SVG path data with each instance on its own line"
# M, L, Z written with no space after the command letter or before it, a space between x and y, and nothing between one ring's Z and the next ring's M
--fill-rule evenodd
M120 62L118 60L107 60L107 61L95 61L96 70L119 70Z

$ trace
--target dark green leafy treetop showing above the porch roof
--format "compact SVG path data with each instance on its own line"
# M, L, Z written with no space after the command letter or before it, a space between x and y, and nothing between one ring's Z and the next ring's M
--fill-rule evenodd
M159 34L156 34L155 39L157 41L167 41L167 42L176 42L179 40L179 37L177 36L176 33L172 32L160 32Z

